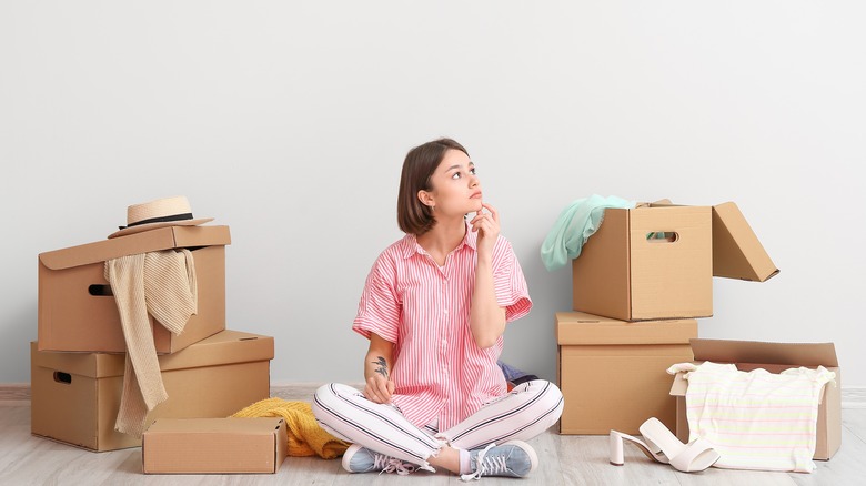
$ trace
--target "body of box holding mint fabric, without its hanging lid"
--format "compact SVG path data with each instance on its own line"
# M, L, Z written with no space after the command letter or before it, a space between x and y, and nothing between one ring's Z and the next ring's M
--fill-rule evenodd
M712 264L709 207L608 209L572 262L574 310L623 321L708 316Z

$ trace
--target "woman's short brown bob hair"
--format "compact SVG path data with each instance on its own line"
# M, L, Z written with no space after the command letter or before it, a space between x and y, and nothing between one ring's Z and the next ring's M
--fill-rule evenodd
M433 210L417 198L419 191L432 191L430 176L445 158L449 150L459 150L466 155L466 149L451 139L439 139L409 151L403 161L397 193L397 224L407 234L421 235L436 224Z

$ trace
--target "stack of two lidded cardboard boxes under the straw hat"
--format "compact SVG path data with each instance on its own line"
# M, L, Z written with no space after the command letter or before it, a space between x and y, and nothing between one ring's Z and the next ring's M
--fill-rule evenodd
M225 328L228 226L168 226L39 255L39 333L31 343L31 432L91 450L141 445L114 431L125 341L104 262L188 249L198 314L172 335L150 317L169 395L147 418L212 418L270 396L273 337Z

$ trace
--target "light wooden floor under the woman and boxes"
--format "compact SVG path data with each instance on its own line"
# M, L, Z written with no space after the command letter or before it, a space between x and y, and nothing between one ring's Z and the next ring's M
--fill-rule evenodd
M290 397L285 397L290 399ZM866 408L843 409L842 449L816 462L813 474L709 468L684 474L653 463L626 446L625 465L607 462L606 436L561 436L531 441L540 465L525 479L484 478L485 485L866 485ZM340 460L288 457L270 475L143 475L141 448L92 453L30 435L30 404L0 402L0 485L457 485L455 475L349 474Z

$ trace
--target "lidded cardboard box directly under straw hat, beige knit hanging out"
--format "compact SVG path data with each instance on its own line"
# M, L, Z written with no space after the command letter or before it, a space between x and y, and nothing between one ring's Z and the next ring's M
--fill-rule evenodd
M169 226L40 254L39 350L125 352L104 262L169 249L192 251L199 308L178 336L150 317L157 352L174 353L224 330L230 242L229 226Z

